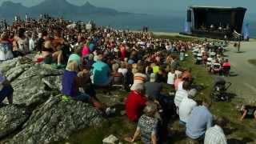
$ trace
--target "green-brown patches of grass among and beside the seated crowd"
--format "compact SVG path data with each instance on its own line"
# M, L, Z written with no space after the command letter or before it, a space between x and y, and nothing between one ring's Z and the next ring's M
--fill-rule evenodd
M170 38L170 39L181 39L180 37L166 37L160 36L158 38ZM187 38L184 38L187 39ZM190 40L190 39L189 39ZM192 73L197 84L203 85L204 90L198 94L197 99L202 100L202 98L210 99L210 90L213 86L213 78L207 73L203 66L196 66L193 64L192 58L186 58L185 62L181 62L183 67L189 68L192 67ZM170 90L165 86L165 91ZM124 91L113 91L113 94L118 94L120 100L126 97L127 93ZM231 138L231 143L243 143L251 142L254 143L256 138L256 122L253 120L245 120L240 122L238 120L239 114L235 109L237 104L240 104L242 99L234 98L232 102L214 102L210 110L214 114L214 117L226 116L230 120L229 125L227 126L227 138ZM109 118L104 122L102 128L90 128L86 130L81 130L77 134L74 134L70 140L67 142L70 143L85 143L85 144L99 144L102 143L102 139L110 134L114 134L121 141L127 135L134 133L136 128L136 123L129 122L126 116L115 116L114 118ZM184 134L184 128L178 125L178 120L170 122L169 126L172 137L170 138L170 143L185 143L186 136ZM168 142L168 143L169 143ZM255 141L256 142L256 141ZM62 143L62 142L61 142ZM140 143L140 142L137 142Z

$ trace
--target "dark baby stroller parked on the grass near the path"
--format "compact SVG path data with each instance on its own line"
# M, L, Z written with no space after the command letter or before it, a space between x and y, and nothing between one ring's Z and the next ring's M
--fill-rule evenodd
M229 102L229 95L226 90L231 86L231 82L226 82L224 78L218 77L215 79L214 89L211 97L215 102L224 101Z

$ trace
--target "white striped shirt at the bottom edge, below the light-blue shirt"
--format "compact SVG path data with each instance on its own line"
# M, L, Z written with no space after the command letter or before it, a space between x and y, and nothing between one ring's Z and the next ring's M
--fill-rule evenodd
M206 130L205 144L226 144L226 136L220 126L213 126Z

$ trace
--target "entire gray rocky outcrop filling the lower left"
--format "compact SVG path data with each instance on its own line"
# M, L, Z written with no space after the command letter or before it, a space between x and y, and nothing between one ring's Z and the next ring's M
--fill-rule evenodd
M0 107L0 139L6 138L2 142L58 142L77 130L101 126L102 114L90 104L62 102L63 70L27 58L2 62L0 70L14 88L15 104Z

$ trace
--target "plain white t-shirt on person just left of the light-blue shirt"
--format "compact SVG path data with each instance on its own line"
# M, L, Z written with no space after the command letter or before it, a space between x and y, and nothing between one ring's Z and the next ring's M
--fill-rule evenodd
M190 118L190 113L195 106L197 106L197 102L194 102L193 99L183 98L178 107L179 119L182 122L187 122Z

